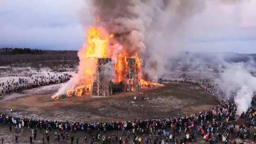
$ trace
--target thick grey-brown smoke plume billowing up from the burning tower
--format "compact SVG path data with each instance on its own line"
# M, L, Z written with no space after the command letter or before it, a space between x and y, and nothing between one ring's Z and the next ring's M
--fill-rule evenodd
M205 5L205 0L85 1L93 17L100 18L99 24L114 34L124 50L131 56L138 53L143 59L146 80L162 75L164 56L175 50L172 41L185 32L187 20Z

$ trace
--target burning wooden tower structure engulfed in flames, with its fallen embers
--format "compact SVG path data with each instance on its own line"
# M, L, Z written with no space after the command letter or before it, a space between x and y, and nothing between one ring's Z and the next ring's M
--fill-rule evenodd
M74 77L77 82L72 83L73 90L54 95L52 99L58 100L65 95L109 96L115 91L139 92L141 88L163 86L141 79L141 59L138 53L125 51L114 40L113 34L106 34L101 27L91 27L87 38L84 45L86 51L82 49L78 52L80 68L78 76Z

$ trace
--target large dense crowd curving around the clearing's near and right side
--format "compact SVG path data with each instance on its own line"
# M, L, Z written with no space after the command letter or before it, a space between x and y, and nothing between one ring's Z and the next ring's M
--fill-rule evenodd
M191 144L203 139L209 144L254 144L256 135L251 134L251 126L254 126L256 110L252 107L248 111L236 115L236 106L232 99L225 99L225 92L216 88L216 85L209 83L198 83L192 81L182 81L193 86L199 86L210 94L216 96L218 105L209 109L172 118L153 119L153 120L132 120L132 121L101 121L101 122L73 122L73 121L49 121L28 118L18 118L7 114L0 114L0 124L9 124L10 131L12 126L15 130L32 129L30 141L36 139L37 131L46 131L47 141L54 137L56 141L70 141L73 144L74 136L69 133L85 131L85 143L87 136L91 136L90 143L102 141L102 144L127 144L132 141L134 144ZM254 104L256 98L252 100ZM60 131L61 134L54 133L49 136L49 131ZM105 136L107 132L120 131L121 136L116 133L112 136ZM131 133L131 134L130 134ZM177 139L177 137L183 138ZM126 136L125 139L122 137ZM16 137L15 137L16 138ZM43 137L44 139L45 137ZM142 139L143 138L143 139ZM234 140L236 139L236 140ZM43 140L44 142L44 140ZM78 138L76 138L78 144Z

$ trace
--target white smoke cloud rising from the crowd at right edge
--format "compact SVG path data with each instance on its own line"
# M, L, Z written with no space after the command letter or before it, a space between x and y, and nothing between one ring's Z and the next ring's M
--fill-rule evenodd
M216 83L226 92L227 97L234 95L236 113L241 115L251 106L251 99L256 91L256 78L251 76L243 63L225 64L225 67Z

